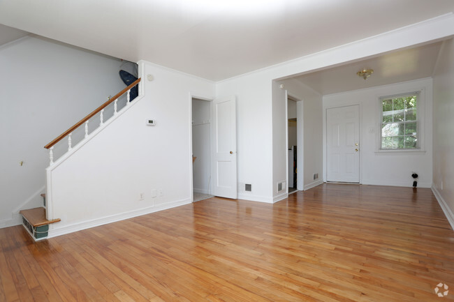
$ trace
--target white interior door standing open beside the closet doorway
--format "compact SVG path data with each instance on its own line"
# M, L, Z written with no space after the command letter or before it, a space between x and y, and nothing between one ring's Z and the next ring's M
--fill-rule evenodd
M211 121L213 195L237 198L235 97L213 100Z

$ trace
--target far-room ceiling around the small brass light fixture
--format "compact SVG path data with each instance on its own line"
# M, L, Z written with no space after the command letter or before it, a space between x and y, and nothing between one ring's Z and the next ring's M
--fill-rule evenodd
M331 93L431 77L437 63L441 43L443 42L383 54L372 59L293 77L293 79L325 96ZM365 68L374 70L367 80L356 75L359 70Z

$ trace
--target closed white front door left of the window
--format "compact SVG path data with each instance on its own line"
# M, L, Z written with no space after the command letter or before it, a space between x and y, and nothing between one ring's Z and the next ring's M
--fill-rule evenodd
M359 105L326 110L326 180L360 182Z

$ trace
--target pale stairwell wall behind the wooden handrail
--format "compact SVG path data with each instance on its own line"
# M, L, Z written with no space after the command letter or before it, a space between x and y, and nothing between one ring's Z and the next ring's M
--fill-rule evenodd
M43 146L125 87L119 65L45 38L0 47L0 227L21 222L13 212L43 205Z

